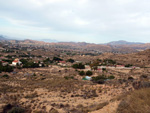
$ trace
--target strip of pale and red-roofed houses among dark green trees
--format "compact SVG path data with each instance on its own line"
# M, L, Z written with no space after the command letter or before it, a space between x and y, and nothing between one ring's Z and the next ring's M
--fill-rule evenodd
M132 70L139 70L140 67L132 66L132 65L117 65L115 61L111 59L104 59L104 61L101 60L96 60L96 61L90 61L90 63L82 64L82 61L74 61L73 59L68 59L66 61L63 61L61 58L58 57L53 57L52 60L50 58L46 58L43 61L38 61L38 60L30 60L27 59L19 59L19 58L14 58L12 62L7 62L11 61L12 59L9 59L7 57L0 57L1 61L1 66L6 67L8 69L2 69L1 67L1 75L2 74L9 74L6 72L12 72L12 73L18 73L21 72L22 70L32 70L32 68L40 68L41 70L47 69L55 71L55 73L64 73L67 72L67 70L73 70L77 71L76 75L81 75L84 80L92 80L92 77L102 75L102 74L108 74L107 71L118 71L118 72L124 72L124 73L129 73ZM30 61L30 62L29 62ZM88 65L89 64L89 65ZM9 70L10 69L10 70ZM62 70L66 70L63 71ZM71 72L73 72L71 71ZM3 72L3 73L2 73ZM49 73L49 74L50 74ZM33 75L34 73L32 72ZM66 73L64 73L65 75ZM71 73L70 73L71 74ZM91 77L90 77L91 76Z

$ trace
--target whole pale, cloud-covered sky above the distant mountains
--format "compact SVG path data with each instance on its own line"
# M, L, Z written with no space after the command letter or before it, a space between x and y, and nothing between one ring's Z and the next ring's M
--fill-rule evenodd
M89 43L150 42L150 0L0 0L0 34Z

